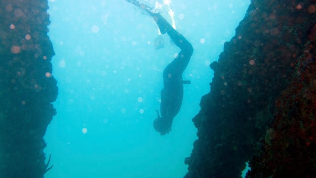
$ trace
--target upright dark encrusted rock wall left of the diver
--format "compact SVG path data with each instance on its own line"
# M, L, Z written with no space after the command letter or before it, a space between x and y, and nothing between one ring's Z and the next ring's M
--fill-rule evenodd
M0 1L0 177L43 178L56 111L47 0Z

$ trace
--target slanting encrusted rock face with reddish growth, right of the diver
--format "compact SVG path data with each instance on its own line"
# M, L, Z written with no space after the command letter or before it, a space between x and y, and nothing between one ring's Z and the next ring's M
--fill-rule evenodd
M251 178L286 175L298 165L296 177L314 175L315 24L316 0L251 1L210 66L214 78L193 118L198 139L186 178L238 178L249 160Z

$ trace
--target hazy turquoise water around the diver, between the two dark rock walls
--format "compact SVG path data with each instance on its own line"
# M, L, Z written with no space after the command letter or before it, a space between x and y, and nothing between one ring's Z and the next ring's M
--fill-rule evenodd
M141 0L154 5L154 0ZM158 2L162 3L162 0ZM57 115L47 128L46 178L181 178L197 129L192 118L209 92L225 41L235 34L250 0L172 0L177 30L194 46L183 74L180 113L172 131L153 128L162 71L179 52L164 35L155 50L154 20L125 0L49 0L49 37ZM169 21L167 6L159 10ZM86 131L86 133L85 133Z

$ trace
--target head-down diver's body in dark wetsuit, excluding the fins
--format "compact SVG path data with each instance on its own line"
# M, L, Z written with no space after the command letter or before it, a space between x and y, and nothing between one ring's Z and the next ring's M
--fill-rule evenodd
M161 90L161 117L154 121L154 128L161 135L171 131L173 118L178 114L183 98L182 73L186 69L193 53L193 47L179 32L163 19L160 14L151 14L161 33L167 33L180 47L178 56L163 71L163 89Z

